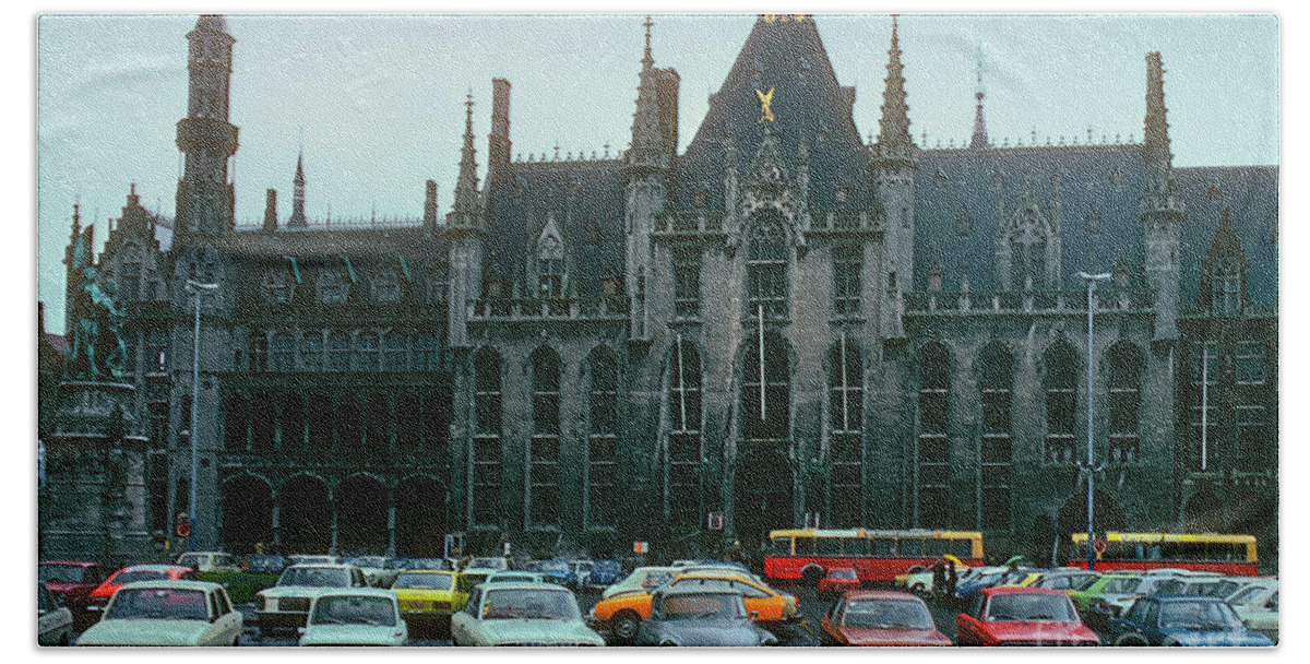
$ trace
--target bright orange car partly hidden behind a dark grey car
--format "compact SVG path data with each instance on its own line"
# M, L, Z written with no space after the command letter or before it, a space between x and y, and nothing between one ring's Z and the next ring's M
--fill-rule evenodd
M734 589L745 599L745 610L758 622L781 622L798 618L800 606L791 595L781 593L761 581L731 572L694 572L675 576L665 588ZM631 643L642 621L651 614L651 593L633 592L601 600L591 609L595 626L608 626L618 643Z

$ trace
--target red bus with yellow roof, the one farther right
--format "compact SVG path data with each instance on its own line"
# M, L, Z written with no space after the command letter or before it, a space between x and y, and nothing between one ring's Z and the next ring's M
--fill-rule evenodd
M1106 551L1096 554L1096 570L1158 570L1172 567L1230 576L1255 576L1255 537L1216 533L1104 534ZM1073 533L1076 551L1087 550L1087 533ZM1074 557L1072 567L1087 567Z

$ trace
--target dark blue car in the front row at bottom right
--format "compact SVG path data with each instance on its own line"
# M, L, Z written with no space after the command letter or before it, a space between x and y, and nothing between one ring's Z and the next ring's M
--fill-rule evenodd
M1115 646L1273 646L1218 597L1142 597L1110 621L1102 640Z

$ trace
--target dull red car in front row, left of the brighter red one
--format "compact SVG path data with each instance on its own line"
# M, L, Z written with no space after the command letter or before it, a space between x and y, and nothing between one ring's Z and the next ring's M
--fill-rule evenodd
M950 646L924 600L891 591L848 591L819 622L837 646Z

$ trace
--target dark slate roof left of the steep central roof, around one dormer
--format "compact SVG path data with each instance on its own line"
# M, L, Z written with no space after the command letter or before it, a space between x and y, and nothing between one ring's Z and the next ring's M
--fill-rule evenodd
M574 292L600 297L607 270L624 274L625 200L618 160L511 162L489 196L486 265L527 295L525 261L549 213L563 234Z

